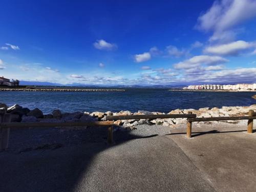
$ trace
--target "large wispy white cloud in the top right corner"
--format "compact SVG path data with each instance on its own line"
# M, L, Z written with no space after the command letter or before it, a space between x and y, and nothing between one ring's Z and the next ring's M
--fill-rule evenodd
M256 16L254 0L215 1L209 10L198 18L196 28L212 31L210 40L230 40L236 35L232 28Z

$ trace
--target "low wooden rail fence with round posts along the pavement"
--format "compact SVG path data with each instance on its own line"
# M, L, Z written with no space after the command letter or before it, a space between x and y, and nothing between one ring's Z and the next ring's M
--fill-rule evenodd
M188 112L188 114L164 114L164 115L125 115L125 116L106 116L106 121L94 122L11 122L11 114L0 115L0 151L8 148L9 134L11 128L28 128L28 127L73 127L73 126L108 126L108 143L113 143L113 125L114 120L125 119L162 119L162 118L187 118L187 137L191 137L192 122L195 121L223 121L223 120L248 120L247 133L251 134L253 129L253 119L256 119L256 113L249 110L248 116L237 117L209 117L197 118L196 114Z

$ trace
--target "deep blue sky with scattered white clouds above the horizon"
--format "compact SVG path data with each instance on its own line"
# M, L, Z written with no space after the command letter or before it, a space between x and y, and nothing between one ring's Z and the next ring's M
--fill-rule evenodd
M1 1L0 76L256 82L256 1Z

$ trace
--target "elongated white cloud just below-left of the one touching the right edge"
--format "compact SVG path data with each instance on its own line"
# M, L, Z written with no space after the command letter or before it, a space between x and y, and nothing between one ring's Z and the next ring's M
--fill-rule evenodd
M209 55L199 55L199 56L194 56L190 59L184 60L182 62L176 63L174 65L175 69L190 69L190 68L195 68L199 67L200 65L217 65L219 63L224 63L227 62L228 60L219 57L219 56L209 56Z

